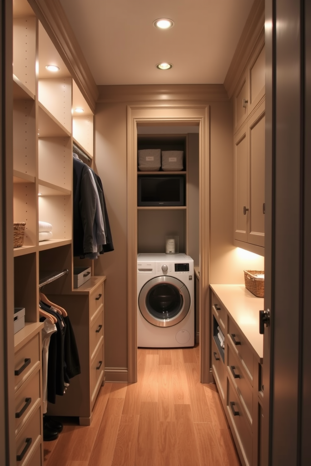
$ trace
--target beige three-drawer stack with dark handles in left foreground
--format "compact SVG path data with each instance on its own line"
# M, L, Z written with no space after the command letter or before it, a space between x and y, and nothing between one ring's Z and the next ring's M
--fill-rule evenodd
M41 324L27 324L14 343L16 465L43 465Z

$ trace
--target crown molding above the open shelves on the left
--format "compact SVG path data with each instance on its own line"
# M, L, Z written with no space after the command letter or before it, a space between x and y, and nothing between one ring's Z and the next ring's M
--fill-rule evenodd
M70 74L95 112L97 85L59 0L28 0L65 62Z

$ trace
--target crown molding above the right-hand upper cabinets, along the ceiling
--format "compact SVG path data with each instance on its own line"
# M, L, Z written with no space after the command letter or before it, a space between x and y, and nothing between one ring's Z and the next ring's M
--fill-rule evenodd
M255 0L224 80L224 87L230 99L242 73L246 69L252 51L264 36L264 22L264 0Z

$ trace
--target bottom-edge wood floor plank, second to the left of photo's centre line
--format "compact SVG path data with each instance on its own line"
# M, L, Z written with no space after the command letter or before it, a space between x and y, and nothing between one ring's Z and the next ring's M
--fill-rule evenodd
M121 416L111 466L135 466L139 416Z

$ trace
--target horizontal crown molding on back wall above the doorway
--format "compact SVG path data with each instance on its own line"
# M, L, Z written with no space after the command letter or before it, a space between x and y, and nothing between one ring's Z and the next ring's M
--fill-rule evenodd
M98 103L229 100L223 84L101 85L98 90Z

